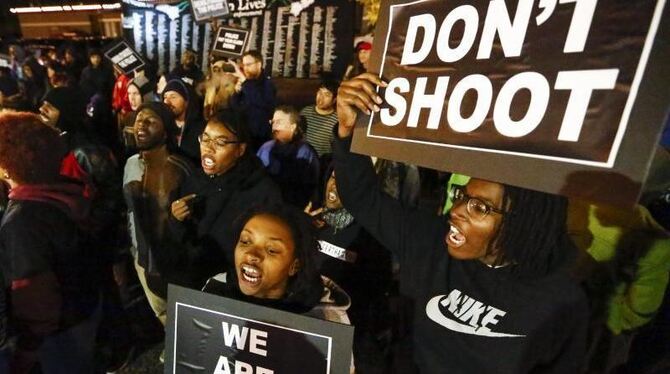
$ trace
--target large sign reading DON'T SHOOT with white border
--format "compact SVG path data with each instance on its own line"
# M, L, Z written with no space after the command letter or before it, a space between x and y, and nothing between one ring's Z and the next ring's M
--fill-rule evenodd
M670 102L667 16L665 0L382 2L370 66L389 86L353 149L631 204Z

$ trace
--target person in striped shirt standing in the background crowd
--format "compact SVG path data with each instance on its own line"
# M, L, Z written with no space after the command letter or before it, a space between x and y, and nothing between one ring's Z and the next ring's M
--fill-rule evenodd
M305 140L314 147L319 158L332 153L333 127L337 124L335 100L338 86L339 83L335 81L322 81L316 91L316 104L300 111L307 123Z

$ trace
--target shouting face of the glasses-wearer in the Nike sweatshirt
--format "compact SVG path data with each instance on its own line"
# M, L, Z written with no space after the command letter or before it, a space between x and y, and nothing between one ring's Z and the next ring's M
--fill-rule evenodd
M504 187L500 183L471 179L465 187L470 198L476 198L493 208L502 210ZM449 213L450 231L445 243L449 254L459 260L493 260L499 248L495 239L500 229L502 215L491 212L482 217L468 211L466 201L455 201Z

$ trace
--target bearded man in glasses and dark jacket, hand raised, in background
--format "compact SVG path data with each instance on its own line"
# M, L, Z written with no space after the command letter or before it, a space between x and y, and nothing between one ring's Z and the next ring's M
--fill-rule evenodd
M251 150L258 148L271 138L268 122L272 118L277 101L277 89L272 79L263 73L263 56L258 51L247 51L242 55L242 67L235 68L237 83L231 98L231 108L246 116L251 129Z

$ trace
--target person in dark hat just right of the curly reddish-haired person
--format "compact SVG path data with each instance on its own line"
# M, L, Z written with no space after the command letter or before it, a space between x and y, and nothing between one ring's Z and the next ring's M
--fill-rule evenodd
M130 346L128 325L122 317L118 287L113 279L113 267L122 261L123 195L121 174L112 151L95 136L94 129L84 121L84 104L73 87L57 87L44 97L40 118L55 128L65 141L66 152L61 155L61 175L84 185L84 198L90 212L82 223L80 241L95 253L97 274L104 286L102 345L112 355L125 357Z

